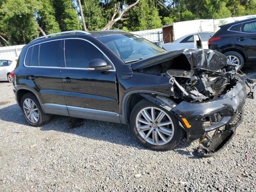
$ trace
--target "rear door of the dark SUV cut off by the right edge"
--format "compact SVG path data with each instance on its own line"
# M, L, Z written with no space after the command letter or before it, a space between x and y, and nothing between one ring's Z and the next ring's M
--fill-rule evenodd
M240 32L234 33L234 43L246 52L249 61L255 61L256 20L243 23L239 30Z

